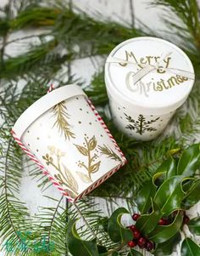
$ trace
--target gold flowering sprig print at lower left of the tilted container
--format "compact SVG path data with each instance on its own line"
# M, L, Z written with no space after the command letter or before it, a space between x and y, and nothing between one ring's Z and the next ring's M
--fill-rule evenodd
M48 147L49 153L42 158L46 161L47 165L53 166L58 171L58 174L55 174L54 177L58 180L59 185L66 187L64 191L69 193L69 196L75 197L78 195L78 183L76 182L73 174L69 171L64 164L60 163L61 157L65 156L65 153L59 151L54 146ZM56 159L53 159L53 156L56 156Z

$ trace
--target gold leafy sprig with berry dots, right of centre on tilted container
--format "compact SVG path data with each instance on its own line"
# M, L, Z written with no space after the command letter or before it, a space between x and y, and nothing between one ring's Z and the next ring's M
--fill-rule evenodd
M79 174L81 180L85 183L91 183L92 182L92 174L97 173L101 161L95 162L98 158L97 153L92 154L92 151L97 151L97 140L95 136L92 137L92 139L89 139L88 137L85 137L85 142L83 145L75 145L77 150L81 153L81 155L87 157L87 162L81 162L79 161L78 166L80 168L85 168L87 171L87 174L83 174L81 172L77 172Z

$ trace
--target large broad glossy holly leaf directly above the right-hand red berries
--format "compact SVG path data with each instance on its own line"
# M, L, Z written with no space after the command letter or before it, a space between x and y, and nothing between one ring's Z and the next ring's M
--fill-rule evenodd
M181 208L181 202L185 196L181 186L182 181L182 176L170 177L160 185L154 196L153 201L165 216Z

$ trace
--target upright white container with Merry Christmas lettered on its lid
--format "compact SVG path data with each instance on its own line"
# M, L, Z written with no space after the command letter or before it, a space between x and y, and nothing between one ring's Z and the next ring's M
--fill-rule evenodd
M191 60L155 37L120 43L108 55L105 82L114 122L128 136L154 139L192 90Z

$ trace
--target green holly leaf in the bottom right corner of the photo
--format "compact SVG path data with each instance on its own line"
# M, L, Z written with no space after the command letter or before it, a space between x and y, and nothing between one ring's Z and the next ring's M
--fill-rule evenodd
M181 256L200 255L200 247L192 239L186 238L181 245Z

